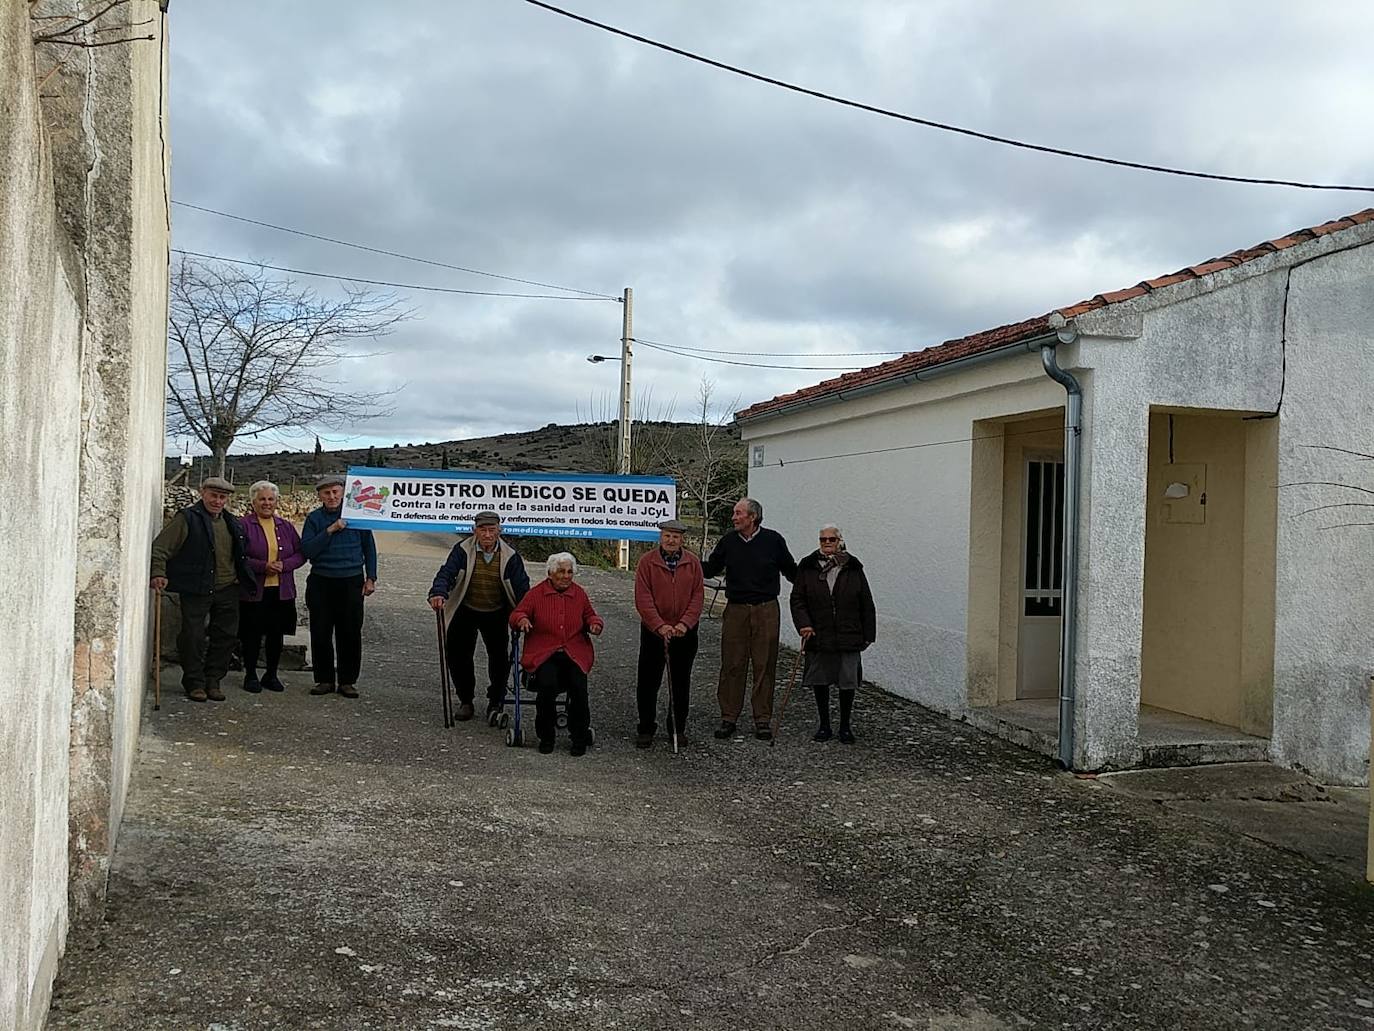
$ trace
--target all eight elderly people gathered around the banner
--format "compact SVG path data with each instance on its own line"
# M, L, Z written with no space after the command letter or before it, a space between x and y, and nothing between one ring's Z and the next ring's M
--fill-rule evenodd
M225 510L234 487L210 477L201 500L177 513L153 543L151 586L181 599L177 650L183 687L192 701L223 701L220 682L228 672L234 642L243 653L243 690L284 689L278 674L283 638L295 631L295 570L305 562L305 605L311 623L315 686L311 694L357 697L363 654L363 599L376 590L376 543L371 531L342 517L344 477L316 484L320 507L297 535L276 514L279 492L267 481L249 488L250 514ZM877 636L872 592L863 564L848 553L834 525L820 528L818 547L797 562L780 533L763 525L763 506L742 498L727 532L702 562L683 546L687 529L677 520L660 524L658 547L635 569L635 608L640 619L636 748L650 748L658 733L658 696L668 674L669 731L687 738L691 671L705 580L724 576L721 616L720 727L714 737L734 738L749 694L754 737L772 738L774 683L778 665L782 579L791 581L791 619L801 636L802 683L815 691L819 716L813 740L835 737L830 691L840 694L838 740L853 744L853 700L860 653ZM592 638L605 621L587 592L574 583L573 555L551 555L545 579L530 586L519 554L500 535L500 516L480 513L470 536L459 540L429 591L430 608L447 617L445 656L458 694L456 718L475 715L474 653L486 652L486 715L502 711L510 654L510 631L523 635L521 667L536 697L539 751L554 751L556 698L566 694L570 752L591 744L587 676L595 661ZM258 661L262 674L258 675Z

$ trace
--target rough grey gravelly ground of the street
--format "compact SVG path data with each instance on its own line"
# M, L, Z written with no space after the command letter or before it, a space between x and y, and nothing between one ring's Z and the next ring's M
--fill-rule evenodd
M1371 1028L1374 894L1327 866L864 691L859 744L639 752L617 573L596 748L440 723L392 535L363 697L232 690L147 713L104 924L51 1028ZM783 664L783 672L790 665Z

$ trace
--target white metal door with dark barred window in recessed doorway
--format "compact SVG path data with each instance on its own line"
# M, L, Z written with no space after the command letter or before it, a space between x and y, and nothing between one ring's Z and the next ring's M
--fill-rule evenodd
M1017 697L1059 693L1063 614L1063 454L1026 455L1022 474Z

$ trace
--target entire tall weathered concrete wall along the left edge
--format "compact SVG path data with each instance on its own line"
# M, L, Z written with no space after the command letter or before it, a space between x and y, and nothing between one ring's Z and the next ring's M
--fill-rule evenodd
M137 733L168 243L161 173L148 172L150 155L159 169L164 154L147 117L150 103L157 113L147 82L158 76L161 44L62 48L63 70L44 85L52 99L40 103L37 78L52 55L36 60L29 11L0 4L0 469L10 498L77 502L0 506L7 554L43 557L41 590L0 592L0 1027L16 1028L40 1027L47 1016L70 922L69 869L95 855L70 847L71 770L103 763L103 803L98 792L88 799L111 826ZM121 18L159 25L153 0L137 0ZM140 179L155 181L155 192L131 190ZM144 228L121 235L121 220ZM121 419L131 432L113 432ZM95 507L98 467L115 476L113 513ZM107 606L115 653L109 711L124 715L109 720L109 757L87 764L100 735L73 734L82 704L73 689L89 682L106 649L77 649L73 639L82 634L81 594L89 598L82 542L95 513L114 520L122 548L142 554L111 553L103 570L118 586ZM107 859L113 836L98 847ZM103 869L96 865L102 891Z

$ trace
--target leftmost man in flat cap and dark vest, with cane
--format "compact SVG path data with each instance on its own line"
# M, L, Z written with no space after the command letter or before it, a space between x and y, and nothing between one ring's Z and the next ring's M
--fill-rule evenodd
M239 634L239 584L254 583L243 528L224 509L232 494L228 480L209 477L201 484L201 500L173 516L153 542L150 586L176 591L181 599L176 650L191 701L224 701L220 680Z

